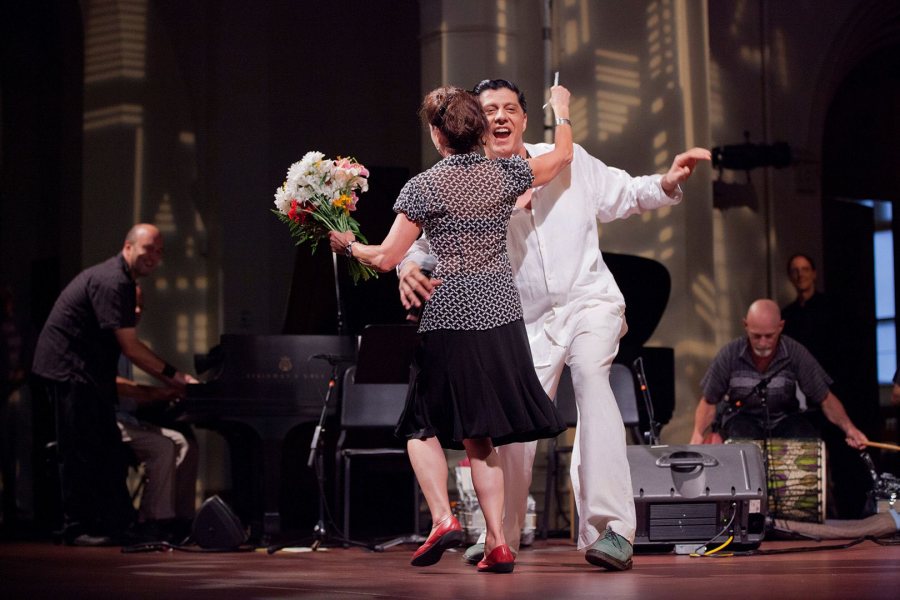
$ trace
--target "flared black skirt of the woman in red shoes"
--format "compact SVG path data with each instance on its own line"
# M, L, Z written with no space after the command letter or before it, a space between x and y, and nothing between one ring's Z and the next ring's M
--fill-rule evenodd
M534 372L521 319L481 331L422 334L398 436L437 436L444 448L462 450L464 439L502 446L565 430Z

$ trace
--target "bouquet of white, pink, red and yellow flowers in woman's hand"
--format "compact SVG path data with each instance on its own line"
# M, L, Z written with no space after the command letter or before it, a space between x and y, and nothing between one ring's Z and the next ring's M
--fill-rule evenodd
M368 176L368 169L352 158L332 160L321 152L307 152L290 166L287 179L275 190L272 212L288 225L298 246L310 242L313 252L329 231L352 231L367 243L350 213L356 210L356 192L369 189ZM350 261L350 275L353 283L377 277L374 269L355 260Z

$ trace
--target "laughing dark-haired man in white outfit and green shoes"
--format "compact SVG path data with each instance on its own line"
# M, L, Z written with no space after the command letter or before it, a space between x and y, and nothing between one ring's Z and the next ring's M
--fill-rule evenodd
M488 117L485 152L490 158L539 156L550 144L525 144L525 97L512 83L485 80L473 90ZM516 204L507 250L522 297L535 370L547 394L555 396L568 364L578 405L571 479L580 516L578 548L585 558L610 570L632 564L635 530L631 475L625 454L622 417L609 385L609 371L625 335L625 301L598 246L597 221L681 201L679 184L707 150L694 148L675 157L665 175L631 177L608 167L575 146L572 164L549 184L534 188ZM411 308L427 300L440 282L419 269L428 253L419 240L400 266L400 296ZM537 444L497 448L504 476L504 535L516 552L525 520L531 469ZM480 558L478 545L467 562Z

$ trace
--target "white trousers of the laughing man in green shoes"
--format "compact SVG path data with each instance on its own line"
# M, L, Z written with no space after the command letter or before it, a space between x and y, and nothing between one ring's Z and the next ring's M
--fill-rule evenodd
M568 364L578 406L578 426L570 476L579 515L578 548L593 544L607 526L634 540L635 510L631 471L625 451L625 427L609 385L609 371L628 327L615 306L581 312L568 346L554 345L550 364L536 367L550 397L556 394ZM537 442L497 448L504 477L503 534L517 552Z

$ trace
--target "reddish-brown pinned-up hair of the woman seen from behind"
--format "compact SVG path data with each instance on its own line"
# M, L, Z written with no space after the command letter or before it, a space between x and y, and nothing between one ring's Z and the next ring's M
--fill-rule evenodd
M458 87L440 87L428 92L419 108L419 117L424 125L434 125L444 134L454 154L480 147L488 128L478 99Z

